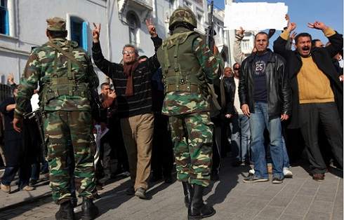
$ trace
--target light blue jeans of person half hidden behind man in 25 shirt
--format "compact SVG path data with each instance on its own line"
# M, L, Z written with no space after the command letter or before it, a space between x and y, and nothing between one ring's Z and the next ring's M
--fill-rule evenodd
M241 114L234 115L231 119L230 130L232 131L231 145L235 160L249 161L248 152L251 143L249 117Z

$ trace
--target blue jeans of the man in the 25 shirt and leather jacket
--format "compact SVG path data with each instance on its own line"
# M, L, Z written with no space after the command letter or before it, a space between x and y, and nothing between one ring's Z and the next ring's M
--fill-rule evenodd
M283 144L282 126L279 117L269 119L267 103L256 102L254 113L250 116L251 151L255 175L258 178L269 178L267 174L264 130L267 128L270 136L270 154L272 158L273 176L283 178Z

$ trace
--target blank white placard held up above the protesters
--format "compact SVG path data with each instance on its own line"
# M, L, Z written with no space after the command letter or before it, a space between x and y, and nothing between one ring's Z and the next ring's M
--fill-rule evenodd
M286 27L285 15L288 6L284 3L243 2L225 6L225 29L282 30Z

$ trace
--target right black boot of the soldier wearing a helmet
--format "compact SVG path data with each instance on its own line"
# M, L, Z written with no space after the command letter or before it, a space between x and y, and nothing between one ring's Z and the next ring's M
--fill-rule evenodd
M194 184L193 189L194 195L192 196L189 209L187 210L187 219L196 220L213 216L213 214L215 214L215 209L203 202L204 186Z

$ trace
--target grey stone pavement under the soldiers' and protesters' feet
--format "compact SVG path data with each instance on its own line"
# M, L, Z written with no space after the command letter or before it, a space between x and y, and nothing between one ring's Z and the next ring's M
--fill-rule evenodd
M216 209L215 219L343 219L343 173L330 169L325 181L317 182L303 167L292 167L293 179L283 184L270 182L244 184L247 167L231 167L226 158L220 181L212 184L204 199ZM338 177L339 176L339 177ZM114 181L100 191L95 201L100 208L98 219L187 219L181 184L151 186L151 200L140 200L125 193L128 178ZM21 192L19 192L21 193ZM1 193L0 200L4 200ZM81 202L81 201L79 201ZM58 206L50 197L0 211L0 219L54 219ZM80 218L80 205L75 209Z

